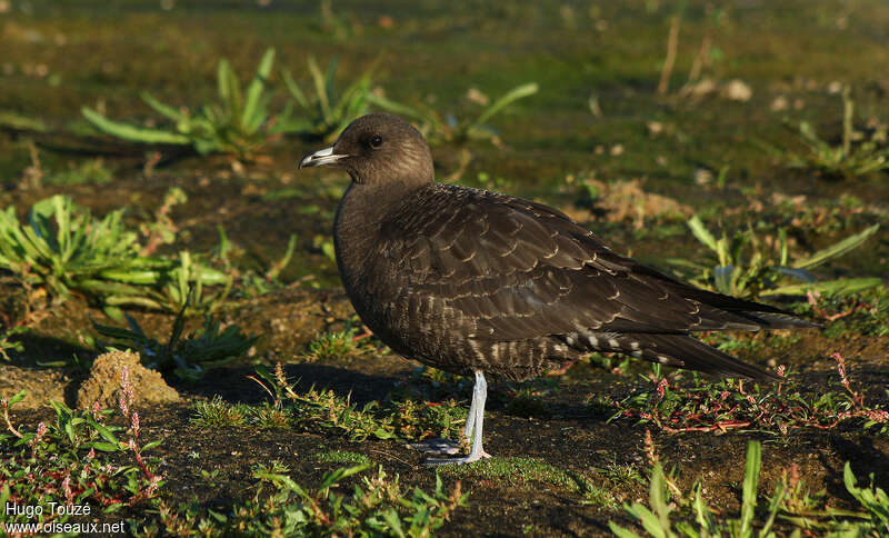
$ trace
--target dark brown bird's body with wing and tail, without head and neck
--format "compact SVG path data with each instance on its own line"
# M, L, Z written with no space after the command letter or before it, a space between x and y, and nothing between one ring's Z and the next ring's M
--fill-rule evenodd
M670 279L551 208L496 192L418 189L387 211L372 243L350 291L356 309L398 352L450 371L523 379L596 349L753 376L676 355L687 339L703 346L693 330L796 323Z

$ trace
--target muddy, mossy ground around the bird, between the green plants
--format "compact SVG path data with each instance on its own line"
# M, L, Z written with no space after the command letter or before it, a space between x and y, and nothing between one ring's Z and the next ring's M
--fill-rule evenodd
M354 323L336 265L319 242L329 239L338 195L348 178L334 171L296 170L299 158L323 147L323 141L282 138L254 160L186 156L151 168L141 151L119 151L112 140L83 142L71 134L83 123L79 109L84 104L100 104L112 118L151 117L139 99L144 89L192 107L212 99L221 57L248 73L267 47L276 47L280 64L307 80L308 54L322 62L339 54L343 82L377 60L373 80L388 97L457 113L478 110L467 98L470 88L493 97L536 81L541 88L537 96L492 120L501 145L437 146L437 175L458 172L463 185L553 205L617 250L666 270L676 269L666 258L705 259L683 223L693 212L708 225L740 228L751 220L790 222L809 215L807 208L816 208L815 213L823 208L823 227L791 233L800 251L810 252L866 225L880 222L883 228L867 248L820 268L819 277L885 279L889 273L889 176L843 180L791 170L762 149L765 145L802 151L788 124L803 119L836 143L842 107L835 83L852 86L862 122L871 117L889 121L889 8L883 3L688 2L671 88L665 94L657 87L672 7L497 6L398 2L382 8L334 2L333 17L313 2L132 0L109 7L0 1L0 111L39 118L53 132L0 132L0 207L14 205L21 217L34 201L62 192L97 215L127 207L128 220L138 223L151 219L169 188L180 187L188 201L171 215L180 231L177 242L166 248L209 251L222 226L237 246L234 265L244 271L268 268L282 256L289 237L297 236L296 255L281 276L283 287L260 296L236 290L217 312L224 323L260 336L248 356L211 370L199 382L168 376L183 401L140 409L143 438L164 439L153 455L161 458L161 496L170 504L197 498L203 507L224 509L253 485L250 466L272 459L288 464L300 484L317 484L337 465L319 462L314 455L337 449L367 455L387 472L400 475L408 487L434 486L433 471L403 442L351 442L297 429L208 428L191 420L193 402L217 395L230 402L264 401L266 392L247 379L258 363L280 361L291 379L300 380L299 387L329 387L341 396L351 393L359 404L384 399L399 383L413 379L418 367L370 347L324 360L307 357L310 341ZM711 54L715 60L702 78L712 79L717 89L683 94L680 88L705 37L719 54ZM736 79L751 90L748 98L731 98L719 89ZM274 99L284 99L280 87ZM471 160L462 167L465 149ZM111 182L50 185L28 172L37 167L47 178L97 155L111 172ZM726 166L726 180L719 185L713 178ZM606 190L607 200L590 200L580 187L587 180L602 189L622 187ZM799 196L805 198L791 209L775 202ZM837 209L843 197L856 197L860 210ZM312 209L301 210L306 208ZM21 320L24 291L9 275L0 283L4 322ZM782 305L792 308L801 300ZM30 331L16 337L24 351L11 352L9 362L0 360L0 393L29 389L13 420L31 426L49 416L48 399L73 405L87 373L72 362L88 363L97 355L89 338L96 336L91 321L116 323L80 297L62 305L38 298L33 307L27 319ZM158 336L169 333L173 320L168 313L130 313ZM190 329L199 325L199 317L188 320ZM787 365L803 392L817 393L836 379L831 355L839 352L868 401L889 405L883 390L889 385L889 337L855 327L805 331L791 345L783 337L753 337L765 345L739 355L762 366ZM56 362L69 365L41 366ZM637 373L649 370L636 365L630 375L616 375L581 362L553 378L553 386L528 412L509 405L515 387L495 381L486 449L498 457L539 458L593 478L601 476L598 469L623 465L645 476L646 427L629 419L608 422L608 414L587 402L597 397L620 400L647 388L650 381ZM468 387L459 397L468 406ZM701 478L708 501L725 514L739 510L749 439L765 441L766 491L783 469L797 464L812 491L825 489L831 505L851 507L842 485L846 461L857 476L873 472L875 484L889 489L889 439L860 424L805 428L787 436L743 430L669 435L657 428L651 432L661 459L677 467L680 485L688 488ZM193 452L200 459L189 457ZM219 469L212 487L197 478L201 469ZM448 485L457 480L442 476ZM612 488L618 501L647 499L645 481L598 480ZM632 522L619 506L585 504L581 494L545 481L516 484L469 475L462 485L470 494L468 506L456 511L439 536L597 536L609 534L609 520ZM128 516L152 517L139 509Z

